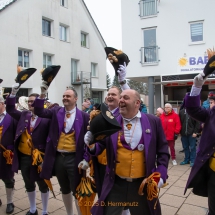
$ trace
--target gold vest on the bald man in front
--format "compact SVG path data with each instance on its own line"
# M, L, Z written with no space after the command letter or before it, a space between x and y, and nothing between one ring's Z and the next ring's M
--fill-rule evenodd
M145 151L128 150L118 136L116 174L125 178L141 178L146 175Z

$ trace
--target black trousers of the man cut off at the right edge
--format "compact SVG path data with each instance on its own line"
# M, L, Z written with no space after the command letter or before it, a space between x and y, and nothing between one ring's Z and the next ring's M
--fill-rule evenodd
M215 215L215 172L208 167L208 215Z

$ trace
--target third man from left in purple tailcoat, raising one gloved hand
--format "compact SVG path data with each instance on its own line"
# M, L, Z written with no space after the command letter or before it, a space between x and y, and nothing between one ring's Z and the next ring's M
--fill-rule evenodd
M35 113L40 117L51 119L41 177L50 179L53 174L56 175L67 214L71 215L73 214L72 193L75 195L76 187L82 177L79 174L78 164L82 163L84 169L89 166L87 162L89 157L85 153L84 144L89 114L76 107L78 95L74 89L64 92L62 100L64 107L44 109L45 89L47 90L48 86L43 82L41 95L34 102Z

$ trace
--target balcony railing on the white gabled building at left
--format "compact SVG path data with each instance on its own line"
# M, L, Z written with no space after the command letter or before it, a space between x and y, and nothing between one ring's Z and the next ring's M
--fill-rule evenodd
M91 72L71 72L71 84L79 85L79 84L90 84L91 83Z

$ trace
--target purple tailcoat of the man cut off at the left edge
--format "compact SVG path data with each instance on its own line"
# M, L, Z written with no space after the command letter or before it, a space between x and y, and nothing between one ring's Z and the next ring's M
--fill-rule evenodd
M6 114L3 121L3 131L1 137L1 144L11 151L14 151L14 138L16 132L16 121ZM14 176L12 165L6 164L6 159L3 157L4 150L0 148L0 179L11 179Z

